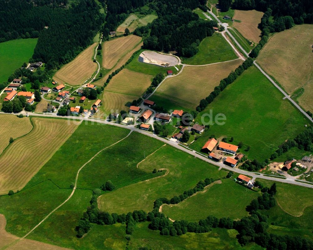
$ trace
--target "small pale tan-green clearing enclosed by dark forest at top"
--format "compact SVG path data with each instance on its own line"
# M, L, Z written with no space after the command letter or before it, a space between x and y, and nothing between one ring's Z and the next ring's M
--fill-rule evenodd
M117 27L116 31L124 33L125 29L128 28L130 32L133 32L137 27L146 26L156 19L156 15L146 15L142 18L137 17L135 14L130 14L126 20Z

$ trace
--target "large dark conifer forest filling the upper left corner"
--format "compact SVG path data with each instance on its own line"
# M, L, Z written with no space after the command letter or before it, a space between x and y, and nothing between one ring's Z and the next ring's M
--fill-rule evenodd
M67 0L0 0L0 42L39 37L33 59L56 68L92 42L104 17L94 0L65 8ZM44 28L47 26L47 28Z

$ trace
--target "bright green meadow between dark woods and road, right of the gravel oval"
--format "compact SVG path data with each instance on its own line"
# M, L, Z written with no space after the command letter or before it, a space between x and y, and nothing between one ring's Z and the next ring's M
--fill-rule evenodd
M220 33L206 37L199 45L199 52L191 58L182 60L183 64L203 65L224 62L238 58L233 48Z

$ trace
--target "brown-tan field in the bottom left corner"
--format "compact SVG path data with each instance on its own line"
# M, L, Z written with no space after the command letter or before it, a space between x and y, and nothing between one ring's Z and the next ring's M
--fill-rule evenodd
M54 245L49 245L43 242L38 242L34 240L22 239L14 236L13 234L5 231L6 226L5 217L0 214L0 249L7 250L30 250L30 249L40 249L40 250L66 250L69 248L58 247Z

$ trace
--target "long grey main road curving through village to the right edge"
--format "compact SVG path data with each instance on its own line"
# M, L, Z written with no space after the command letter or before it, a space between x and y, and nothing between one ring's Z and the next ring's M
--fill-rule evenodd
M3 112L0 112L1 114L4 114ZM22 114L26 114L26 112L21 112ZM15 114L13 114L15 115ZM34 113L28 113L28 115L31 115L31 116L41 116L41 117L58 117L56 114L34 114ZM204 157L202 155L200 155L198 152L194 151L194 150L190 150L190 149L187 149L181 145L179 145L178 143L174 142L174 141L171 141L171 140L167 140L165 138L162 138L160 136L157 136L155 134L151 134L145 130L140 130L140 129L137 129L135 127L130 127L130 126L126 126L126 125L122 125L122 124L118 124L118 123L113 123L113 122L109 122L109 121L106 121L106 120L101 120L101 119L94 119L94 118L87 118L87 117L74 117L74 116L63 116L63 118L67 118L67 119L71 119L71 120L88 120L88 121L92 121L92 122L98 122L98 123L101 123L101 124L108 124L108 125L113 125L113 126L117 126L117 127L121 127L121 128L125 128L125 129L129 129L131 131L136 131L138 133L141 133L143 135L147 135L147 136L150 136L152 138L155 138L157 140L160 140L168 145L171 145L172 147L174 148L177 148L181 151L184 151L192 156L194 156L195 158L198 158L200 160L203 160L203 161L206 161L212 165L215 165L215 166L218 166L218 167L222 167L224 169L227 169L229 171L233 171L233 172L236 172L236 173L239 173L239 174L245 174L245 175L249 175L249 176L252 176L253 179L255 178L260 178L260 179L265 179L265 180L272 180L272 181L278 181L278 182L283 182L283 183L289 183L289 184L295 184L295 185L298 185L298 186L304 186L304 187L309 187L309 188L313 188L313 184L308 184L308 183L303 183L303 182L299 182L299 181L295 181L294 179L281 179L281 178L275 178L275 177L270 177L270 176L264 176L264 174L259 174L259 173L253 173L253 172L249 172L249 171L245 171L245 170L241 170L241 169L238 169L238 168L232 168L232 167L229 167L229 166L226 166L224 165L222 162L215 162L215 161L212 161L210 160L208 157Z

